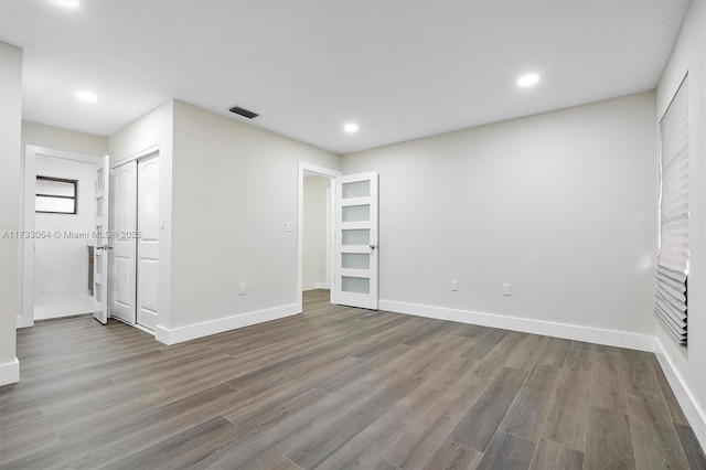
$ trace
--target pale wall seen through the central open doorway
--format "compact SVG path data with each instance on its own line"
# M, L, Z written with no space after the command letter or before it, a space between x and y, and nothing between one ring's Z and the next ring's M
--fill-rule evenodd
M304 178L302 289L317 289L327 278L327 189L331 179Z

